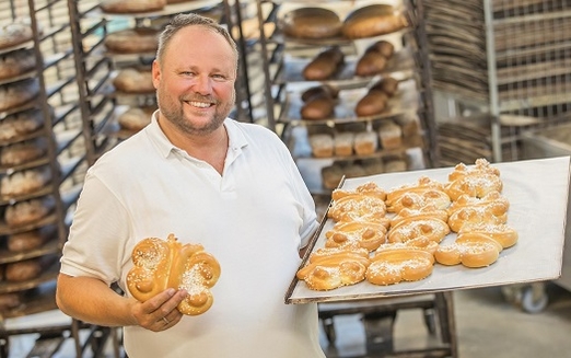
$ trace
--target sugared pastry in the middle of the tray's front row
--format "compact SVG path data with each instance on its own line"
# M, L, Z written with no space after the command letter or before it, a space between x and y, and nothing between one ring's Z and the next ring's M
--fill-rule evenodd
M373 285L418 281L432 274L434 256L420 249L384 250L371 258L366 280Z

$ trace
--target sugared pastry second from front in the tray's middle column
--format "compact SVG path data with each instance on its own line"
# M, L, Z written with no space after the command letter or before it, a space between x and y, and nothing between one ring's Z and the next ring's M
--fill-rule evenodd
M388 231L388 242L407 242L427 236L434 242L441 242L450 233L448 224L438 218L408 218Z

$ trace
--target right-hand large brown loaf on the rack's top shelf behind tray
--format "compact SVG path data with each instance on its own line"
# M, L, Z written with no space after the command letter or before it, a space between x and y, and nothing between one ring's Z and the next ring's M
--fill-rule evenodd
M347 38L364 38L393 33L406 27L406 19L392 5L371 4L349 13L343 21L342 34Z

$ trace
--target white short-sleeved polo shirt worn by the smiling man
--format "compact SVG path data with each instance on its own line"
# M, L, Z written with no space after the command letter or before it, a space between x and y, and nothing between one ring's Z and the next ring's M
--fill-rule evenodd
M265 127L226 119L221 176L173 147L155 115L89 170L61 272L118 281L125 290L135 244L174 233L219 261L214 303L161 333L125 327L129 357L325 357L316 305L284 303L298 251L317 228L287 147Z

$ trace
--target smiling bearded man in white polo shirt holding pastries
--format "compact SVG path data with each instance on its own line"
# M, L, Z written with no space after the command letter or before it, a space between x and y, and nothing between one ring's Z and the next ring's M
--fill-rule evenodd
M177 15L152 68L160 109L88 172L57 302L79 320L125 326L130 358L324 357L315 304L283 302L299 251L317 228L314 203L276 134L226 118L237 59L223 27ZM125 289L136 243L168 233L202 244L220 263L203 314L176 310L183 289L145 302Z

